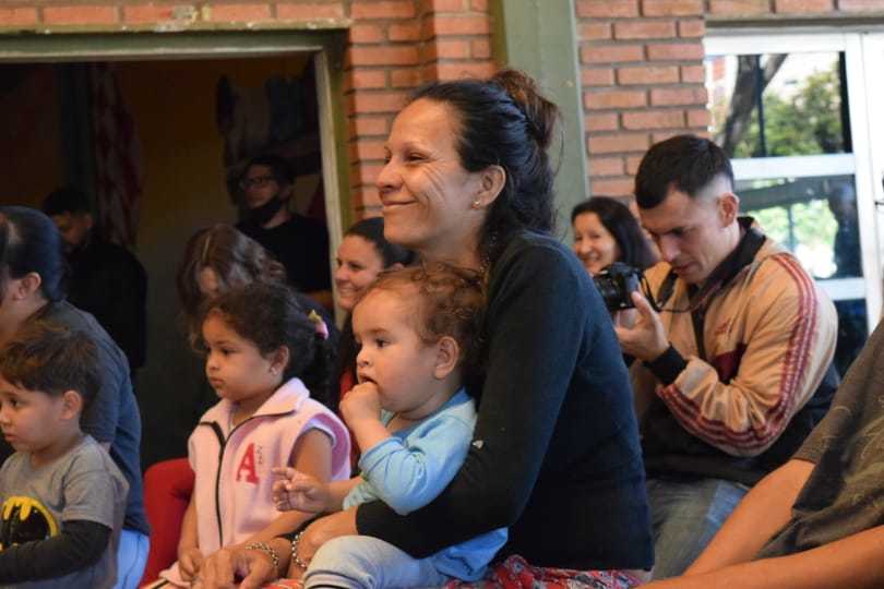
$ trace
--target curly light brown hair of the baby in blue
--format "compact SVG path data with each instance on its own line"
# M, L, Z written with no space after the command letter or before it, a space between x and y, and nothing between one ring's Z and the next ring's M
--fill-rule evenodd
M409 289L416 289L417 297ZM486 305L481 274L441 262L427 262L382 272L361 299L374 290L392 290L414 301L413 323L421 341L432 345L443 336L453 337L461 348L457 361L464 382L473 385L478 381L483 364L480 335Z

